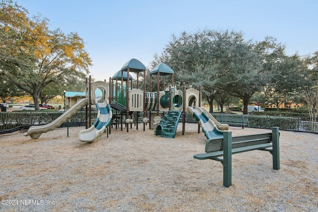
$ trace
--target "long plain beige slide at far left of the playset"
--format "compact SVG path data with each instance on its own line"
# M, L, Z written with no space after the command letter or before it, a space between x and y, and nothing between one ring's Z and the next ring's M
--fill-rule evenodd
M41 126L31 126L23 136L30 136L32 139L38 139L42 133L47 133L49 131L55 130L60 127L63 123L70 120L70 118L75 115L82 107L88 105L88 98L79 100L73 107L63 113L59 118L53 122L41 125Z

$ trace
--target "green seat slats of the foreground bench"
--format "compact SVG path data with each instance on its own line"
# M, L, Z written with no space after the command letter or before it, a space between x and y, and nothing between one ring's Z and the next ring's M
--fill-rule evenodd
M242 146L238 148L233 148L232 154L256 150L256 149L263 149L263 148L268 148L272 146L273 146L272 143L261 143L261 144L250 145L250 146ZM214 159L216 157L221 157L221 156L223 156L223 151L214 151L209 153L195 154L193 157L195 159L205 160L205 159Z

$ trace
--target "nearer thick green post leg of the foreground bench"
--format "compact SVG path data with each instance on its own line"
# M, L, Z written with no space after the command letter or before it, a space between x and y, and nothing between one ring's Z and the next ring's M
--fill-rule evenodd
M223 133L223 185L232 185L232 132Z

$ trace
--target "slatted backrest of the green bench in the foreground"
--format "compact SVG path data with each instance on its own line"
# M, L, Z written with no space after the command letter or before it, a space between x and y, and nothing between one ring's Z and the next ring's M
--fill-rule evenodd
M272 142L272 133L235 136L232 137L232 148L270 142ZM223 138L209 139L205 144L205 151L207 153L214 151L223 151Z

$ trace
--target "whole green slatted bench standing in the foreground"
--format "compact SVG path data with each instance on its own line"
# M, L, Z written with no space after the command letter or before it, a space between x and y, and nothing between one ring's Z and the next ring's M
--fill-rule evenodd
M205 145L206 153L193 155L195 159L212 159L223 164L223 185L232 185L232 154L251 151L269 151L273 156L273 169L278 170L279 128L273 127L272 133L232 137L232 132L225 131L223 139L209 139ZM223 156L223 158L222 158Z

